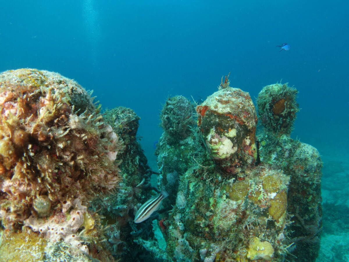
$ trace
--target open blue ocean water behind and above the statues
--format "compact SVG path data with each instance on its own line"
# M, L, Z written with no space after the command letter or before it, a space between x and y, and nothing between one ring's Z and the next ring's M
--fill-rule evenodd
M338 0L1 1L0 71L58 72L93 89L104 108L132 108L153 168L169 95L205 99L229 72L231 86L251 97L289 82L302 108L292 137L324 161L322 257L349 261L345 249L329 249L347 246L349 229L326 213L349 210L348 8ZM289 51L275 48L283 43Z

